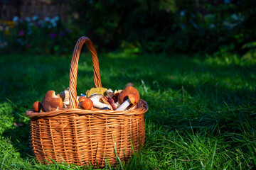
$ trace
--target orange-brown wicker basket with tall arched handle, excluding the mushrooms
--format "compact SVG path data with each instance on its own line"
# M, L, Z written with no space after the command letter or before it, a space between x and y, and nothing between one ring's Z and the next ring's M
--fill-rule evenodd
M71 60L70 108L41 113L26 111L31 119L31 147L43 164L113 165L117 157L125 161L144 145L146 101L140 100L134 111L89 111L77 106L78 60L84 43L92 57L95 86L102 86L95 48L89 38L81 37Z

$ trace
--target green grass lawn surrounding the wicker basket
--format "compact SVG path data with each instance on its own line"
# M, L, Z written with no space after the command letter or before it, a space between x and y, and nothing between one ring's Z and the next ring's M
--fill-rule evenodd
M78 94L94 86L87 53L79 61ZM85 169L38 164L24 114L46 91L68 87L70 60L1 55L0 169ZM132 82L149 104L144 148L117 169L256 169L256 59L116 52L99 60L102 86Z

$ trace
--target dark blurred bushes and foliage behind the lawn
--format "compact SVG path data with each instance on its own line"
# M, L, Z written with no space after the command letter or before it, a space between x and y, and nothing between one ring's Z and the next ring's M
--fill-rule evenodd
M104 52L238 52L255 57L255 0L65 3L70 16L65 23L58 16L1 21L1 50L10 52L15 47L19 52L70 54L76 40L86 35Z

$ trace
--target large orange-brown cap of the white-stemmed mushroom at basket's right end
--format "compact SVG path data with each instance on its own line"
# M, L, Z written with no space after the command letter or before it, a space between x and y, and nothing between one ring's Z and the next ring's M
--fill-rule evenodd
M134 103L132 103L132 105L129 106L129 108L133 107L136 103L139 102L139 91L137 91L137 89L135 89L133 86L127 86L118 95L118 103L122 104L124 101L126 101L129 98L129 94L132 94L134 96ZM129 100L131 101L131 99Z

